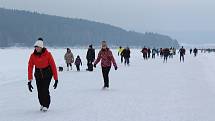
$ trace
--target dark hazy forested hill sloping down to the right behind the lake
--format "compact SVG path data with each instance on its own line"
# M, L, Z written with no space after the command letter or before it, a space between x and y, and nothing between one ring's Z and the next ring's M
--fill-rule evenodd
M109 24L0 8L0 47L31 47L38 37L47 46L179 47L177 40L153 32L126 31Z

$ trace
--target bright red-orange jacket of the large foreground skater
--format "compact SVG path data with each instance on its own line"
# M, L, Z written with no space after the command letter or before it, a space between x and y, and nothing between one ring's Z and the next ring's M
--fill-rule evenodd
M48 52L47 49L44 49L41 55L35 53L36 52L33 52L31 54L28 62L28 80L33 79L32 73L34 66L39 69L43 69L50 66L54 76L54 80L58 80L56 65L51 53Z

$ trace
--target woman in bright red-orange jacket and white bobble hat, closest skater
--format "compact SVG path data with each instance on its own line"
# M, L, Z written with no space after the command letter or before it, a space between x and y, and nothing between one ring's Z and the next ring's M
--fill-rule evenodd
M40 110L47 111L50 105L49 85L54 76L54 89L57 88L58 75L54 59L51 53L44 48L43 39L39 38L34 44L35 50L31 54L28 62L28 88L32 92L31 82L33 80L33 68L35 66L34 77L38 90L38 99L40 102Z

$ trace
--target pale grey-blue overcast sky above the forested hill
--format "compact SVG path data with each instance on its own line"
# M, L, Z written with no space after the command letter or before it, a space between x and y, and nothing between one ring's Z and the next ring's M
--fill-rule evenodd
M0 0L0 7L157 32L181 43L215 43L215 0Z

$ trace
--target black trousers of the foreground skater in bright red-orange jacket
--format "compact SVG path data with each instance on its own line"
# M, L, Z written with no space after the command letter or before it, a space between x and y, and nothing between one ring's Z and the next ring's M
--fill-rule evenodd
M49 95L49 85L52 79L51 68L47 67L45 69L35 69L34 76L36 79L40 105L49 108L51 102Z

